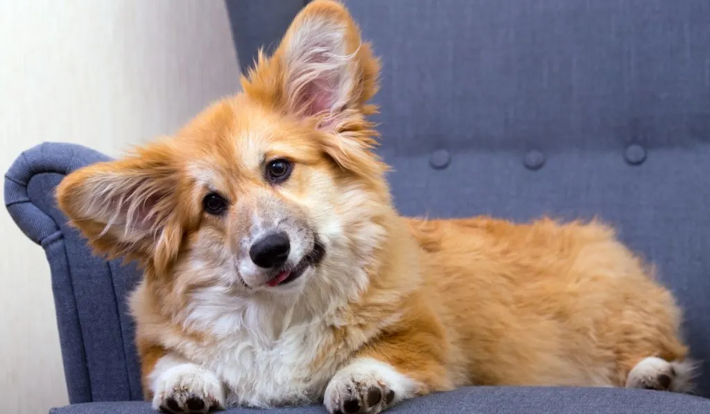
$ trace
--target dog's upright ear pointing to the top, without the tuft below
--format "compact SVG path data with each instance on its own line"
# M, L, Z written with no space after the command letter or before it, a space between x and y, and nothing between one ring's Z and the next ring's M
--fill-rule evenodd
M316 0L295 17L271 58L259 54L244 91L300 118L319 116L336 131L350 116L373 112L379 62L344 6Z

